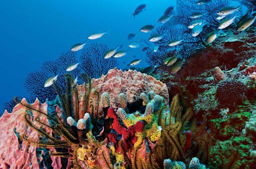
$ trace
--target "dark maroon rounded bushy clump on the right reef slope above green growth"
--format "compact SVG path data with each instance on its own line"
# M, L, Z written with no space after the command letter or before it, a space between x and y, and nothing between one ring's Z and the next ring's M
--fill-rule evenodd
M221 105L233 105L244 98L246 86L235 79L227 79L218 84L215 99Z

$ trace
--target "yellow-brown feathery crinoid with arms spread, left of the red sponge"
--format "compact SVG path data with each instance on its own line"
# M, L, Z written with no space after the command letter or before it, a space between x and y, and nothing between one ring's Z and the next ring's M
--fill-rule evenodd
M14 101L26 109L23 114L25 124L39 134L38 138L20 135L20 139L31 146L39 148L71 148L67 152L50 152L50 156L72 158L74 168L82 169L96 161L96 150L102 145L92 135L92 124L97 123L100 94L91 91L91 79L84 73L80 77L83 85L77 85L70 74L64 74L65 89L58 82L53 83L57 97L47 102L47 110L20 101ZM95 95L92 105L91 96ZM57 105L57 106L56 106Z

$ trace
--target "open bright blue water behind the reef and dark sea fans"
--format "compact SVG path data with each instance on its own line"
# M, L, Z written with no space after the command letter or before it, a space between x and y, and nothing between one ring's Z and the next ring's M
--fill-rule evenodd
M129 49L129 33L138 32L148 39L150 33L139 29L156 24L169 5L176 0L0 0L0 111L14 96L27 96L23 87L27 74L38 70L47 60L55 60L75 43L84 42L92 32L109 30L109 35L90 40L109 48L123 44ZM131 13L142 3L146 10ZM134 40L140 40L136 38ZM150 42L149 42L150 43ZM147 45L144 45L147 46ZM140 48L117 58L121 68L145 56ZM85 46L86 47L86 46ZM81 51L78 52L78 55ZM125 61L125 64L123 64ZM139 66L147 66L144 61Z

